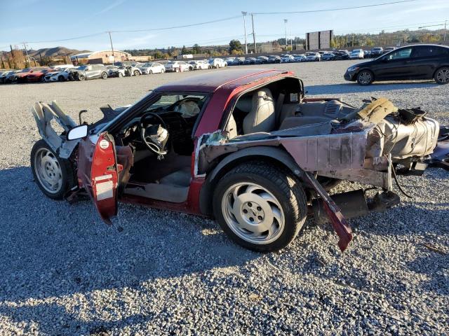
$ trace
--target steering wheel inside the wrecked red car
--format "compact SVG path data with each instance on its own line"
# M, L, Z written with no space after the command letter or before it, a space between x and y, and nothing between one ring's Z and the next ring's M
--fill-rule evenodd
M150 124L145 123L147 118L157 119L159 123ZM139 121L140 138L143 143L158 155L159 160L163 158L163 155L167 154L166 144L168 141L168 130L167 125L156 113L147 112L145 113Z

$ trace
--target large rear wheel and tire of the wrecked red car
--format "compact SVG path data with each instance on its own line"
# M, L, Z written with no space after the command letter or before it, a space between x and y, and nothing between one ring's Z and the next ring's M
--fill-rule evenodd
M253 251L278 251L304 225L307 199L289 172L249 162L218 181L213 210L221 228L237 244Z

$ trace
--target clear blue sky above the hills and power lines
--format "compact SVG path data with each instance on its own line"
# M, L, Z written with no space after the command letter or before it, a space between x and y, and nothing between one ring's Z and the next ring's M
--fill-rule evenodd
M169 30L113 33L114 48L163 48L229 43L232 38L243 42L241 11L288 12L325 8L364 6L394 0L248 0L248 1L152 1L144 0L0 0L0 50L9 44L29 42L28 48L51 48L58 45L79 50L110 48L109 30L157 29L222 18L232 20L196 27ZM71 3L74 6L71 6ZM284 36L283 19L288 19L288 35L304 37L307 31L334 29L335 34L372 32L382 29L417 29L449 20L449 0L416 0L387 6L358 8L335 12L255 15L257 41ZM442 27L430 27L438 29ZM246 20L251 31L250 17ZM449 27L448 27L449 29ZM77 36L89 36L72 41L53 41ZM248 36L248 42L252 36ZM19 45L20 46L20 45Z

